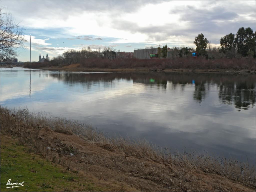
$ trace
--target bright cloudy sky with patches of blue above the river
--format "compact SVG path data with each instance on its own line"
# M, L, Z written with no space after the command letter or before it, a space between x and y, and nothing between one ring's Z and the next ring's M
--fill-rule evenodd
M240 27L256 28L255 1L1 1L31 34L31 60L68 49L116 50L165 45L195 47L202 33L213 46ZM27 44L29 49L29 42ZM18 60L28 61L28 49Z

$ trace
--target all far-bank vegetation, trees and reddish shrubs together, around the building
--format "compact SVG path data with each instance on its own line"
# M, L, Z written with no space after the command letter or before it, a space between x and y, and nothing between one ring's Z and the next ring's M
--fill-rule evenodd
M67 50L62 55L44 62L25 62L25 68L51 68L55 70L144 70L144 71L256 71L256 31L248 27L238 29L236 35L230 33L220 38L220 46L212 47L203 34L198 34L193 42L196 49L188 47L157 48L157 58L137 59L124 56L120 50L105 46L92 50ZM146 47L148 54L153 47ZM199 57L192 57L197 52ZM169 54L167 54L169 53ZM167 55L169 55L167 57Z

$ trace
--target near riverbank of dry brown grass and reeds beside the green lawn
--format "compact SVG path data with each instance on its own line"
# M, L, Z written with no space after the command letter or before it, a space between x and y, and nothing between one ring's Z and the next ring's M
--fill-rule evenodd
M1 106L0 117L1 138L14 137L19 145L26 146L30 152L49 162L83 177L94 178L100 184L100 187L95 186L97 189L255 191L255 168L232 159L196 154L193 154L194 157L192 154L165 155L145 140L135 142L129 138L109 138L89 125L30 113L25 109L14 110ZM1 161L2 152L7 158L7 151L2 151L5 148L3 145L7 144L3 144L1 139ZM14 155L20 153L18 148L14 147L13 150L8 152ZM15 160L20 161L20 158L21 155ZM11 168L11 164L5 166L5 169ZM2 183L7 182L2 178L1 163L1 191ZM22 181L26 178L22 177ZM49 181L48 185L53 184Z

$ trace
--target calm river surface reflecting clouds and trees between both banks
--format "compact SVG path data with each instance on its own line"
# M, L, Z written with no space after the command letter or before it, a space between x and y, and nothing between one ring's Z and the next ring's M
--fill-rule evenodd
M49 112L172 152L255 165L255 74L93 73L1 68L1 105Z

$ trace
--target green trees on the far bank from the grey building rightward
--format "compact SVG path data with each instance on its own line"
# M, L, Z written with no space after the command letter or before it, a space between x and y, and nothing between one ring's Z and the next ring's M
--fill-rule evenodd
M170 58L186 58L191 57L192 52L197 52L199 57L206 59L218 59L218 58L242 58L242 57L256 57L256 41L255 33L248 27L241 27L235 34L227 34L220 38L220 46L213 47L211 41L207 40L204 35L198 34L195 37L194 44L196 50L192 47L173 47L170 50ZM151 47L153 48L153 47ZM157 48L158 59L167 58L168 52L167 45L159 45Z

